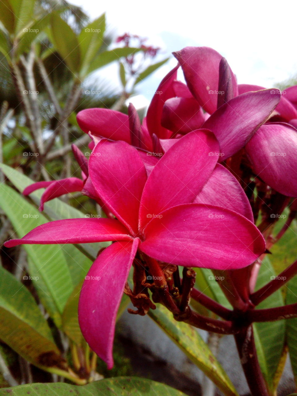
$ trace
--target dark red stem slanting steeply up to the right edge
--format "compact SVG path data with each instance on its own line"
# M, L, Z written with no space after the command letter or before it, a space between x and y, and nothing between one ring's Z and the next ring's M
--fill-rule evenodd
M272 293L284 286L293 276L297 274L297 260L294 261L289 267L281 272L275 279L271 280L261 289L251 294L251 301L254 305L258 305L261 301L267 299Z

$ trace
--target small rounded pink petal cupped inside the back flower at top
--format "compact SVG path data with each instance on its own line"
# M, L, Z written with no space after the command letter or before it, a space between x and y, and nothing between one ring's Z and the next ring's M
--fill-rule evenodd
M171 98L163 107L161 124L174 133L188 133L204 123L202 108L194 99Z

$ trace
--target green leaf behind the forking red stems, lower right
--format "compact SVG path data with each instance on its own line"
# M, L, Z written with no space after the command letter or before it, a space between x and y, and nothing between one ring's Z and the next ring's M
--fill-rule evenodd
M276 274L270 260L268 257L265 257L259 271L256 290L270 282L272 277L275 275ZM257 308L266 309L280 307L282 305L284 305L282 293L278 290L262 301ZM274 377L284 349L285 321L278 320L276 322L255 323L253 328L261 371L264 375L270 393L273 394L276 386Z

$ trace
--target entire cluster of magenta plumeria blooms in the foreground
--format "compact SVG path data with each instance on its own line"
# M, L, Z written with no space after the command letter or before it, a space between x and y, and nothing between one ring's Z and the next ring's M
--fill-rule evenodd
M57 196L82 191L106 218L52 221L6 242L113 241L91 266L79 302L82 333L109 368L124 291L145 314L154 308L148 290L168 289L178 298L172 274L179 265L251 265L265 252L254 224L262 207L253 189L265 187L269 208L275 192L297 196L297 87L284 94L237 85L227 61L211 48L187 47L174 56L179 63L160 83L142 124L132 105L128 115L78 113L92 139L88 159L73 147L82 180L39 182L24 191L46 187L41 209ZM179 67L187 84L177 80ZM132 265L133 291L126 283Z

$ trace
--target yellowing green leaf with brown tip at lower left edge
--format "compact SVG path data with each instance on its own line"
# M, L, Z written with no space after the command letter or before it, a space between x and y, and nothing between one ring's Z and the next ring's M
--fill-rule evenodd
M48 323L29 290L0 267L0 339L36 366L46 354L61 360Z

